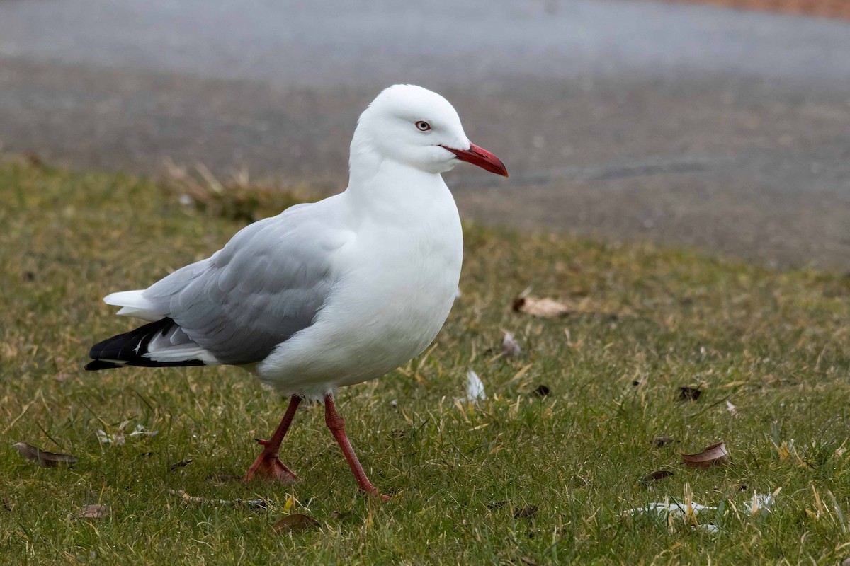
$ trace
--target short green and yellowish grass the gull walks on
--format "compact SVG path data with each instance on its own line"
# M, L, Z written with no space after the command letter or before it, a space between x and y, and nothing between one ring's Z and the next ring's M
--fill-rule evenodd
M846 276L467 226L463 294L433 348L339 395L372 481L397 494L381 504L357 493L320 406L299 412L282 452L301 483L229 479L285 407L239 369L82 371L89 345L133 324L112 316L104 294L153 283L218 249L245 218L292 202L233 187L230 198L250 210L229 215L233 206L220 202L181 204L184 189L0 165L0 563L839 563L850 555ZM575 313L513 312L526 288ZM500 356L502 328L521 355ZM489 395L478 405L456 401L470 368ZM540 385L550 394L536 395ZM680 401L682 386L702 395ZM158 434L99 441L99 430L127 435L137 425ZM653 446L665 434L673 441ZM681 463L681 452L719 440L727 465ZM18 441L79 462L38 468L12 447ZM673 475L640 481L660 469ZM771 513L745 512L754 492L778 488ZM170 490L263 498L268 507L184 502ZM686 493L723 507L698 516L717 533L624 513ZM69 518L89 504L110 515ZM287 513L320 526L275 532Z

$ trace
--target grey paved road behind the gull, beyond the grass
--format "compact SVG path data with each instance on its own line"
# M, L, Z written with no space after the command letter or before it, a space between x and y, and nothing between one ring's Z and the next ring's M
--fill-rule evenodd
M0 143L342 188L383 86L445 93L467 216L850 265L850 23L637 0L0 0Z

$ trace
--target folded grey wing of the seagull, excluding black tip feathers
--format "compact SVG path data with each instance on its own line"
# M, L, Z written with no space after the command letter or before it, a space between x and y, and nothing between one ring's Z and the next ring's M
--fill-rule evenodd
M335 283L331 255L350 233L331 227L331 207L320 206L328 200L243 228L212 257L146 289L144 299L218 361L262 360L310 326Z

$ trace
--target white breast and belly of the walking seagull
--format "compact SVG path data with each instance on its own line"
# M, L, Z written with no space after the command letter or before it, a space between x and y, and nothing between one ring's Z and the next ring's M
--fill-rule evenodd
M454 209L454 207L452 207ZM350 262L314 324L256 371L283 395L320 397L377 378L428 347L449 315L462 263L453 217L416 227L365 229L341 258Z

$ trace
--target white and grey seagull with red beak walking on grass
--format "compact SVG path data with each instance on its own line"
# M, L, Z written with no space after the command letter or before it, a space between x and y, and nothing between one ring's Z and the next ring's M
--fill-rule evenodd
M117 314L149 323L92 346L86 369L227 364L289 397L246 481L297 481L280 443L303 400L324 401L360 490L388 499L366 477L334 392L405 364L449 316L463 238L441 173L460 161L507 177L445 98L386 88L357 121L343 193L254 222L147 289L107 295Z

